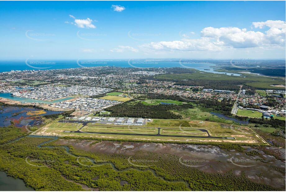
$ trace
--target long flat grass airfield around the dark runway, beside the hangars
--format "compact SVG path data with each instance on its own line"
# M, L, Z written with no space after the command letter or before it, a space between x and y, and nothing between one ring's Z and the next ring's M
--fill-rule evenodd
M52 121L35 135L93 137L168 142L267 143L246 126L199 120L153 119L145 126L99 125ZM208 134L210 137L208 136ZM217 138L215 138L217 137ZM230 139L232 138L232 139Z

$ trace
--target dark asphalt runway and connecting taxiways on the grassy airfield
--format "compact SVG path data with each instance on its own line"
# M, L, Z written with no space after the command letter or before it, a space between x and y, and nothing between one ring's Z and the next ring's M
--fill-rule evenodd
M185 135L161 135L160 129L175 129L174 127L142 127L142 128L157 128L157 134L137 134L137 133L107 133L107 132L92 132L92 131L81 131L81 129L86 126L88 123L93 121L70 121L70 120L60 120L59 123L82 123L83 126L77 131L64 131L65 133L89 133L89 134L107 134L107 135L138 135L138 136L163 136L163 137L189 137L189 138L211 138L211 139L235 139L234 137L213 137L209 134L206 129L195 129L200 130L202 132L206 132L208 136L185 136ZM90 126L101 126L101 125L90 125ZM116 126L108 126L108 127L116 127ZM186 130L181 128L181 130Z

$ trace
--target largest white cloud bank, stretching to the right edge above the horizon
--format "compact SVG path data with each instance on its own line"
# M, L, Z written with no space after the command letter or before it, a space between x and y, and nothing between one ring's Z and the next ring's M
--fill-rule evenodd
M255 28L270 27L265 33L247 31L237 27L206 27L198 39L187 39L188 34L182 34L183 39L175 41L151 42L140 45L145 51L177 50L177 51L221 51L225 48L285 48L285 21L253 22ZM191 33L192 34L192 33Z

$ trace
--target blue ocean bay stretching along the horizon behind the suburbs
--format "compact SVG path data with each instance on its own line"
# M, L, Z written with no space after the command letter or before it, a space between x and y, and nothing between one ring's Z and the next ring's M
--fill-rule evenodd
M161 61L161 60L9 60L0 61L0 72L11 70L49 70L94 66L117 67L188 67L202 72L240 76L240 74L214 71L212 63Z

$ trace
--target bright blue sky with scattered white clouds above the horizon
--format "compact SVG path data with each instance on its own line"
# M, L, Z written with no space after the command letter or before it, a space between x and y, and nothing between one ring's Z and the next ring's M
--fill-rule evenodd
M0 59L285 59L285 1L0 2Z

